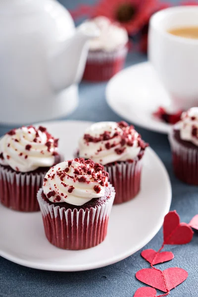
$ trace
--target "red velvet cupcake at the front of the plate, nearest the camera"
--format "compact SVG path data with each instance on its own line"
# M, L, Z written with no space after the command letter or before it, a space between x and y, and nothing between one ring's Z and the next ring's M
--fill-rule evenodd
M37 195L47 239L64 249L99 245L114 197L102 165L75 158L53 166Z

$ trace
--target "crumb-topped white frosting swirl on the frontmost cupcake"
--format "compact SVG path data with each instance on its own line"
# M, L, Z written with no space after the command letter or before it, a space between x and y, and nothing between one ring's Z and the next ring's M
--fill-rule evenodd
M44 178L43 191L52 202L83 205L104 196L107 176L102 165L76 158L51 167Z

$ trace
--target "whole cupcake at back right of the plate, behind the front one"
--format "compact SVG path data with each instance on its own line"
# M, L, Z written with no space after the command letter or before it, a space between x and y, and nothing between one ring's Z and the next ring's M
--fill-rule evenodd
M142 158L148 145L126 122L99 122L85 131L78 154L104 165L115 188L114 204L133 199L140 191Z

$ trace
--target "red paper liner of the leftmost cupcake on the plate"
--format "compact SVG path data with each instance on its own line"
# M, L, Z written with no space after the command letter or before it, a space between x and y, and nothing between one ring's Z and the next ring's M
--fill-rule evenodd
M19 173L0 166L0 202L13 210L38 211L37 192L45 173Z

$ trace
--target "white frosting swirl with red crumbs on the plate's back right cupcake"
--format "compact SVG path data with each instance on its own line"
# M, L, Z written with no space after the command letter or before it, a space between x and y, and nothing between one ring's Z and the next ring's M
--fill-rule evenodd
M102 165L133 160L145 143L125 122L99 122L89 127L79 141L79 156Z

